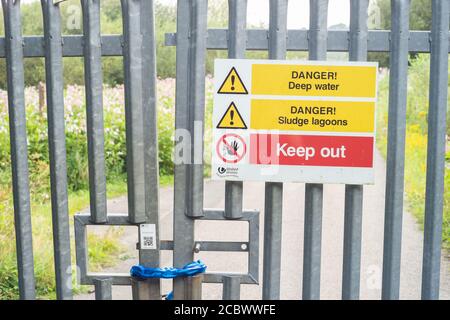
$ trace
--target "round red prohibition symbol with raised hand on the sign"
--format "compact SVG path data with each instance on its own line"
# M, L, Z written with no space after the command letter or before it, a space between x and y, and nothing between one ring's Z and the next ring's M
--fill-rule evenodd
M217 141L216 152L223 162L237 163L244 158L247 145L241 136L227 133Z

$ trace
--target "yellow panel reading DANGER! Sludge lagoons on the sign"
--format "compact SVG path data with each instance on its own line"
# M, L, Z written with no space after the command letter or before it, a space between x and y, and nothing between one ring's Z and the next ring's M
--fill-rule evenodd
M252 100L250 129L372 133L375 103Z

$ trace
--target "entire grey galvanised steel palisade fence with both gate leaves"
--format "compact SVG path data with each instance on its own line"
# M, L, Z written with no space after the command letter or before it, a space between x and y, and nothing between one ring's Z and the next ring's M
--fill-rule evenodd
M291 0L294 1L294 0ZM5 38L0 57L6 58L11 131L14 208L19 287L22 299L35 298L30 195L27 167L24 64L27 57L44 57L48 101L48 131L52 214L58 299L72 298L62 58L84 57L90 214L75 216L77 265L81 284L93 284L97 299L110 299L112 285L132 285L135 299L160 299L159 280L134 281L126 274L93 274L87 269L86 226L157 226L157 250L142 249L139 261L159 265L160 250L173 250L173 264L182 267L199 251L248 253L248 273L206 273L174 280L175 299L201 298L201 283L223 283L224 299L239 299L240 285L259 282L259 212L243 210L242 182L227 182L225 208L203 206L203 162L175 161L173 241L159 239L158 150L155 95L155 29L152 0L122 0L123 35L101 35L100 0L82 0L82 36L62 36L58 2L41 0L44 35L22 37L19 1L2 0ZM328 0L310 0L309 30L288 30L288 0L270 0L268 30L247 29L247 0L229 0L228 29L207 28L207 0L178 0L177 32L166 35L176 46L176 129L188 132L194 159L203 154L205 61L207 50L228 50L244 58L246 50L266 50L270 59L285 59L287 51L308 51L309 59L325 60L327 52L348 52L364 61L368 52L389 52L390 90L385 199L382 299L398 299L404 193L405 128L408 55L430 53L428 156L422 298L439 298L444 192L446 112L449 53L449 1L432 0L431 31L409 30L409 0L391 1L391 30L368 30L368 0L350 0L348 31L327 29ZM251 14L251 13L250 13ZM128 214L108 215L102 114L103 56L123 56L128 170ZM200 123L200 127L198 124ZM181 137L176 137L179 141ZM175 155L176 159L177 155ZM201 157L202 158L202 157ZM266 183L264 210L263 299L280 298L282 183ZM345 188L345 230L342 298L358 299L362 234L363 187ZM323 185L307 184L303 299L320 298ZM248 242L205 242L194 238L197 219L247 221Z

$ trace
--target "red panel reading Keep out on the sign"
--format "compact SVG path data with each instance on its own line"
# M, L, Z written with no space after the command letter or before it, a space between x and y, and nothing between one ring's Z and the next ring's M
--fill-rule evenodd
M251 134L250 163L373 167L373 137Z

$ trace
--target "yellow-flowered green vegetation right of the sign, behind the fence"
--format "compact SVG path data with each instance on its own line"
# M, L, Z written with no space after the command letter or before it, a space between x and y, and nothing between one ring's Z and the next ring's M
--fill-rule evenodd
M423 225L427 157L427 115L429 55L412 61L408 76L407 128L405 150L405 192L407 208ZM389 78L379 85L377 145L386 156ZM450 100L450 99L449 99ZM449 119L447 120L447 128ZM449 129L447 129L449 130ZM447 135L448 135L447 131ZM450 249L450 152L445 171L443 245Z

